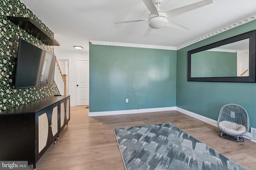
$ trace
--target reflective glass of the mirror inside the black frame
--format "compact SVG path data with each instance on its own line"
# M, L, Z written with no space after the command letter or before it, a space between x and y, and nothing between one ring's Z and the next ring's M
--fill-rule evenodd
M191 54L191 78L249 76L250 39Z

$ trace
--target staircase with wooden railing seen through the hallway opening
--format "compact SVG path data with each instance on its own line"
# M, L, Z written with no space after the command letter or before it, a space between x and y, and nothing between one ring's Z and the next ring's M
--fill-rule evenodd
M55 72L54 72L54 81L59 89L61 95L67 95L66 86L67 86L67 74L62 74L60 70L60 64L56 59L55 63Z

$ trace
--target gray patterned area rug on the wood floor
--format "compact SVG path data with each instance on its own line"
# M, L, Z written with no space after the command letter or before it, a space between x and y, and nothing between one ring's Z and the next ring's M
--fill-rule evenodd
M172 123L114 132L126 170L245 170Z

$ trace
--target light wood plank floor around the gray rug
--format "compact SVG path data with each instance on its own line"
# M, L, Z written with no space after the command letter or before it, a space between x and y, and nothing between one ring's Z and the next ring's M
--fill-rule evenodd
M248 170L256 167L256 143L221 139L214 126L178 111L88 117L86 106L70 108L70 122L36 164L37 170L124 170L113 128L168 123ZM218 129L218 128L217 128ZM32 165L29 166L33 169Z

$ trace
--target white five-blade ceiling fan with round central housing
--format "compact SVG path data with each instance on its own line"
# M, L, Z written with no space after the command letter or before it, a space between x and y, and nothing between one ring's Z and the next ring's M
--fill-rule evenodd
M143 0L143 2L147 6L148 10L151 12L151 14L148 16L148 19L118 21L118 22L114 22L114 23L118 24L118 23L148 21L149 27L146 30L146 32L144 33L144 36L147 36L152 31L152 29L160 29L165 26L174 27L177 29L181 29L183 31L187 31L187 30L189 30L187 27L172 20L171 18L174 16L178 16L180 14L183 14L183 13L189 12L196 8L200 8L202 6L212 4L212 0L202 0L200 2L196 2L194 4L190 4L187 6L182 6L180 8L176 8L173 10L162 11L162 10L160 10L159 7L160 7L160 4L163 2L163 0Z

